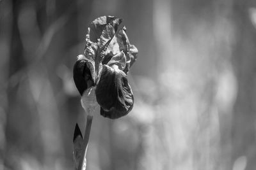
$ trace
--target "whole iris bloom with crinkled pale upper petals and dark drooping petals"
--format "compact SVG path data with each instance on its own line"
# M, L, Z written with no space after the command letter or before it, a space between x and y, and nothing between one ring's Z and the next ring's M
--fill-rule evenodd
M122 20L116 17L96 18L86 34L83 55L74 65L74 81L81 96L95 87L100 115L119 118L132 110L134 99L127 73L136 60L138 50L129 43Z

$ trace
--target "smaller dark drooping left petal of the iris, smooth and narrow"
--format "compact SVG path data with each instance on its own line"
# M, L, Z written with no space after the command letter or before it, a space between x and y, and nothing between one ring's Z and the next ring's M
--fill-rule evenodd
M92 62L81 57L74 64L73 76L77 90L83 95L84 90L95 85L95 71Z

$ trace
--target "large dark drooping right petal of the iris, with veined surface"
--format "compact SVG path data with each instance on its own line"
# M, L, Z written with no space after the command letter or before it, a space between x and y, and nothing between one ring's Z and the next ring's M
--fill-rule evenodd
M116 65L103 65L95 95L101 107L100 115L104 117L119 118L132 110L134 99L131 87L124 71Z

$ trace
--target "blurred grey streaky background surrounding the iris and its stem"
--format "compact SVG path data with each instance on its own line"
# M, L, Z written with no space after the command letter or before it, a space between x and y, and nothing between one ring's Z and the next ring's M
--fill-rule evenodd
M0 169L74 169L86 29L123 18L134 108L95 113L88 170L256 169L255 0L1 0Z

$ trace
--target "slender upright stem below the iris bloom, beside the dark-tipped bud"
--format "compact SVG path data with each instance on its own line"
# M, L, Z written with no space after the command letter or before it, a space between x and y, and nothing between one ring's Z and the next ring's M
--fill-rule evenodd
M79 161L78 170L86 169L86 152L87 152L87 147L88 147L88 141L90 138L92 119L93 119L92 115L87 116L86 127L85 127L85 131L84 131L84 141L83 141L83 157Z

